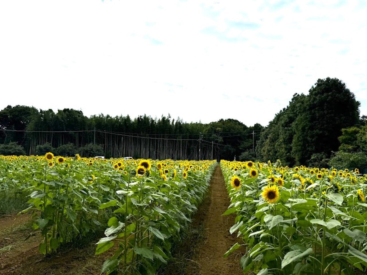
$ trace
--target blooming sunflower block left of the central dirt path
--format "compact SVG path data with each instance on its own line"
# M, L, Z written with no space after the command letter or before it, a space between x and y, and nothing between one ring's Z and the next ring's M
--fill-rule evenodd
M95 254L110 250L102 273L155 274L208 190L217 162L0 156L0 195L25 200L55 254L104 230ZM19 213L19 214L21 214Z

